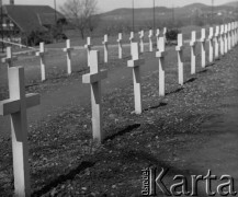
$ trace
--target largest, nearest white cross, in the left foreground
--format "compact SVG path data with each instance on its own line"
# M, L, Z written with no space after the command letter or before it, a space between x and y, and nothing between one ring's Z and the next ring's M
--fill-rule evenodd
M8 68L10 99L0 101L0 115L10 115L15 196L30 196L26 109L39 104L38 94L25 95L24 68Z

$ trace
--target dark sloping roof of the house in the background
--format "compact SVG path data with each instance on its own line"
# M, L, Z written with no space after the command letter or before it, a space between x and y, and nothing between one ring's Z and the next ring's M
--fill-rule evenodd
M48 5L4 5L4 11L22 32L45 32L44 25L55 24L55 10ZM57 12L57 19L64 18Z

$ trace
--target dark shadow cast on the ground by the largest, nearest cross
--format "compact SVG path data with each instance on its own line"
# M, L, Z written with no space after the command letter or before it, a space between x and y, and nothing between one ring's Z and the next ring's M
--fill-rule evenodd
M57 187L58 185L63 184L64 182L68 179L73 179L77 174L84 171L86 169L92 167L94 164L95 162L83 161L79 166L71 170L68 174L58 176L56 179L52 181L48 185L44 186L41 190L34 192L31 196L35 196L35 197L42 196L48 193L49 190L52 190L54 187Z

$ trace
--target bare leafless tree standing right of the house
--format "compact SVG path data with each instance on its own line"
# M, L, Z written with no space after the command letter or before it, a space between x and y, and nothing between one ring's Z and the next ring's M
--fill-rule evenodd
M67 0L60 8L67 20L80 32L84 38L87 30L92 31L97 19L97 0ZM92 20L94 20L92 22Z

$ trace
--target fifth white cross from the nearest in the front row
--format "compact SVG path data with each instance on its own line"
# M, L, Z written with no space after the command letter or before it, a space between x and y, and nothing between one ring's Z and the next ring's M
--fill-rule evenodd
M178 68L179 68L179 84L183 85L183 35L178 34L178 46L175 50L178 51Z

